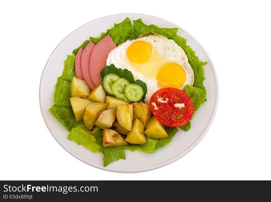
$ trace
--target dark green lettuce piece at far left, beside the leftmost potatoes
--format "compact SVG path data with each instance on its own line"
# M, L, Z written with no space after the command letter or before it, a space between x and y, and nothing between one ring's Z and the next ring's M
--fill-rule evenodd
M49 111L59 120L59 122L68 130L78 125L73 115L71 107L53 105Z

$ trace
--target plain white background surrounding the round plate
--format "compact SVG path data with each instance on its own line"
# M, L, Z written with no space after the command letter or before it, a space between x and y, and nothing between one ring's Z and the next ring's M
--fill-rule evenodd
M266 2L2 2L0 180L271 180ZM40 77L55 47L79 26L119 13L153 15L188 31L211 57L219 82L216 117L202 141L149 172L113 173L77 160L51 136L39 108Z

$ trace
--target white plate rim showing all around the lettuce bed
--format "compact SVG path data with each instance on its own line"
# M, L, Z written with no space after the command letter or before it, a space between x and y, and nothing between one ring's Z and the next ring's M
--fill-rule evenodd
M146 172L146 171L151 171L151 170L155 170L157 168L161 168L161 167L164 167L168 164L171 164L173 162L175 162L176 160L179 160L180 158L182 158L183 156L185 156L188 152L190 152L201 140L202 138L205 136L205 134L208 132L210 126L212 125L212 122L214 120L214 117L216 115L216 110L217 110L217 106L218 106L218 100L219 100L219 85L218 85L218 79L217 79L217 74L216 74L216 70L215 70L215 67L212 63L212 60L211 58L209 57L208 53L206 52L206 50L204 49L204 47L191 35L189 34L186 30L184 30L183 28L181 28L182 31L184 31L186 34L188 34L194 42L196 42L196 44L198 46L200 46L200 48L204 51L204 53L207 55L210 63L208 62L208 64L212 67L212 71L215 75L215 83L216 83L216 89L217 89L217 92L216 92L216 96L215 96L215 107L213 108L213 111L212 111L212 117L211 117L211 121L209 121L209 124L205 127L204 129L204 132L201 134L200 138L197 139L197 141L191 145L188 149L186 149L181 155L178 155L177 157L173 157L165 162L163 162L162 164L159 164L159 165L156 165L156 166L149 166L149 167L146 167L146 168L134 168L134 169L128 169L126 170L125 168L124 169L121 169L121 168L110 168L110 167L103 167L102 165L98 165L98 164L95 164L95 163L89 163L89 162L86 162L85 160L83 160L82 158L80 158L79 156L77 156L76 154L73 154L72 152L69 151L68 148L65 148L61 143L60 143L60 140L58 138L58 136L55 134L53 128L51 127L51 124L46 116L46 113L45 113L45 107L43 105L43 98L42 98L42 85L43 85L43 81L44 81L44 76L45 76L45 73L46 73L46 67L48 65L48 63L51 61L51 58L52 56L54 55L54 53L58 50L59 46L70 36L72 35L76 30L80 29L81 27L83 26L86 26L87 24L91 23L91 22L95 22L95 21L98 21L98 20L101 20L103 18L108 18L108 17L113 17L113 16L120 16L120 15L140 15L140 16L146 16L146 17L152 17L152 18L157 18L159 20L163 20L165 22L168 22L168 23L171 23L173 24L174 26L176 26L178 29L181 28L180 26L168 21L168 20L165 20L163 18L159 18L159 17L156 17L156 16L152 16L152 15L146 15L146 14L136 14L136 13L123 13L123 14L114 14L114 15L108 15L108 16L104 16L104 17L101 17L101 18L97 18L95 20L92 20L90 22L87 22L86 24L76 28L74 31L72 31L70 34L68 34L59 44L58 46L56 46L55 50L51 53L50 57L48 58L45 66L44 66L44 69L42 71L42 75L41 75L41 79L40 79L40 85L39 85L39 104L40 104L40 109L41 109L41 113L42 113L42 117L43 117L43 120L49 130L49 132L51 133L51 135L54 137L54 139L58 142L58 144L63 148L65 149L69 154L71 154L72 156L74 156L75 158L77 158L78 160L84 162L85 164L88 164L92 167L95 167L95 168L98 168L98 169L101 169L101 170L105 170L105 171L110 171L110 172L118 172L118 173L137 173L137 172ZM127 17L127 16L126 16Z

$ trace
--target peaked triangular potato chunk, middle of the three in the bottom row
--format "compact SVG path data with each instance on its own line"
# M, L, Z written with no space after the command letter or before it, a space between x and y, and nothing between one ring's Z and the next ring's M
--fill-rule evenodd
M134 120L133 128L127 134L125 141L132 145L142 145L147 142L144 134L144 125L139 118Z

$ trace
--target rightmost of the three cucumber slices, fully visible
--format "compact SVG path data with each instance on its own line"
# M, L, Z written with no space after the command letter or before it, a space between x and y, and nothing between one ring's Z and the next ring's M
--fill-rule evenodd
M144 90L140 85L130 83L125 86L124 94L131 102L139 102L143 98Z

